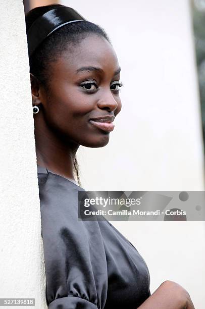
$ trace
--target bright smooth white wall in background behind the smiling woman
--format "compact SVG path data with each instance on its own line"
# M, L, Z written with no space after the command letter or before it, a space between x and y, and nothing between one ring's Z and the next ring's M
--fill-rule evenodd
M81 147L87 190L204 190L201 119L188 0L61 1L110 35L123 108L110 143ZM109 171L108 171L109 170ZM151 290L166 279L204 308L203 222L113 222L138 248Z

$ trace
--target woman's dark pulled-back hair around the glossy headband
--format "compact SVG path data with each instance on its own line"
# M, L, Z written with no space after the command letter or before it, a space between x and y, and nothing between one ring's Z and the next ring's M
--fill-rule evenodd
M57 7L65 7L59 4L37 7L26 14L26 32L33 22L49 10ZM52 74L52 62L55 62L63 52L72 50L86 35L93 33L103 36L110 43L110 39L103 28L88 21L79 21L67 24L49 35L36 48L33 56L29 59L30 73L36 76L44 87L49 90L49 77ZM48 69L49 68L49 69ZM74 172L80 185L79 168L76 156L74 158Z

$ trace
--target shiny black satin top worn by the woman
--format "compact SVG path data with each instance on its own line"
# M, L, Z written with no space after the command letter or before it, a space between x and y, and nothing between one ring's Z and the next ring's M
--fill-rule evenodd
M136 248L105 218L78 221L72 181L37 166L49 309L136 309L149 272Z

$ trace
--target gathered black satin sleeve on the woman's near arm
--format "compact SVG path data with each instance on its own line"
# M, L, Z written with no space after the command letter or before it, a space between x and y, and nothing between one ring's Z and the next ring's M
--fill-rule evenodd
M78 221L80 187L57 176L39 181L47 306L103 309L108 272L98 222Z

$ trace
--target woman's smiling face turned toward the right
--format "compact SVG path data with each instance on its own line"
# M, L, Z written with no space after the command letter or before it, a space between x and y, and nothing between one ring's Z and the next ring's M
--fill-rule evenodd
M69 142L105 146L121 110L120 67L111 44L89 35L63 53L50 72L49 91L41 95L48 127Z

